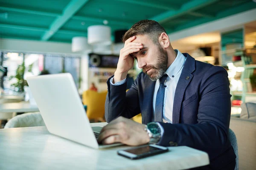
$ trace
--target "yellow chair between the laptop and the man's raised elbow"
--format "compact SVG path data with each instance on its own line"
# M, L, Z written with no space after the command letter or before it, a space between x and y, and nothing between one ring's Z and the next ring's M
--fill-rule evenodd
M90 122L105 122L105 100L108 91L84 91L82 94L82 102L87 106L87 117Z

